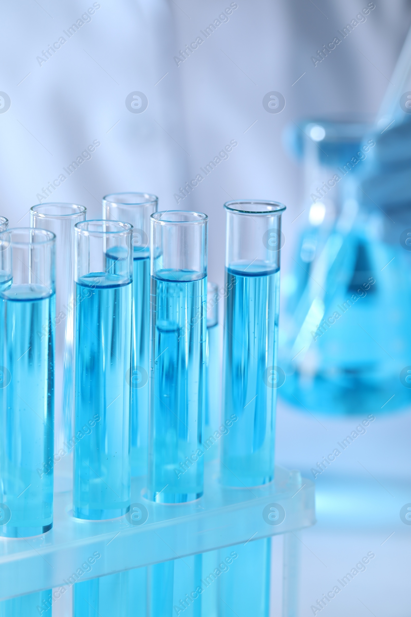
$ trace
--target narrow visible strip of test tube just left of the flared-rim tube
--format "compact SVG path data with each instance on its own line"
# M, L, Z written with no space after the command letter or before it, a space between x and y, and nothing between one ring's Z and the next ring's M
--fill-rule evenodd
M206 397L205 397L205 460L219 456L220 421L220 329L218 325L219 293L217 283L207 283L207 351L206 351ZM219 431L219 436L214 433ZM226 431L224 431L225 433Z

